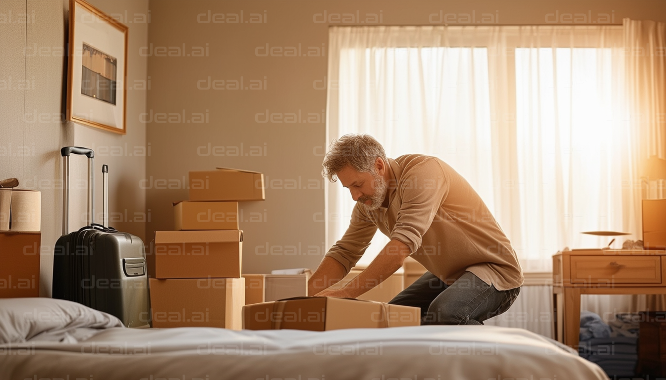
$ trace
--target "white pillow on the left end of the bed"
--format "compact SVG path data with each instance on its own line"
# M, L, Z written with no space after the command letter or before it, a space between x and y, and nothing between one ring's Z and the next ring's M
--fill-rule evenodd
M67 335L80 327L106 329L123 327L123 323L111 314L64 299L0 299L0 344L22 343L42 333Z

